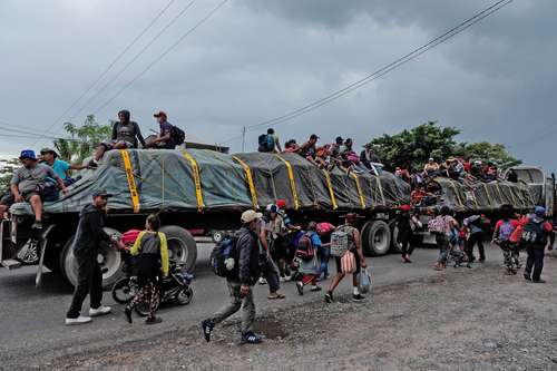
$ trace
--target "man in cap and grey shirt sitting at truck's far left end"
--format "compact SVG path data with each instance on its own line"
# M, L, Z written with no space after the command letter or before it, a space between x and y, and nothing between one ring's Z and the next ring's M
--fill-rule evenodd
M23 166L13 173L10 193L0 199L0 221L12 204L28 202L35 214L32 228L41 230L42 202L58 198L58 189L67 194L68 188L50 166L38 164L32 149L23 149L19 160ZM49 179L53 179L57 185Z

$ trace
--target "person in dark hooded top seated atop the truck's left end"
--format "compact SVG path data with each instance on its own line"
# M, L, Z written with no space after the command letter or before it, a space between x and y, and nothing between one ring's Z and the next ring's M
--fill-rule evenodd
M97 167L98 162L105 155L105 152L110 149L126 149L126 148L137 148L137 141L147 147L145 139L141 135L141 129L136 121L129 120L129 110L123 109L118 113L118 121L113 126L113 137L111 140L101 143L95 152L95 157L89 163L90 167Z

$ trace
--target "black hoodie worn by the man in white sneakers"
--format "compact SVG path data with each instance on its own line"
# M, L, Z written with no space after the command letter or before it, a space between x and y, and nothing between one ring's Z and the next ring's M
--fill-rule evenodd
M92 204L81 209L74 240L74 252L97 254L101 241L110 242L110 236L102 230L105 219L105 212Z

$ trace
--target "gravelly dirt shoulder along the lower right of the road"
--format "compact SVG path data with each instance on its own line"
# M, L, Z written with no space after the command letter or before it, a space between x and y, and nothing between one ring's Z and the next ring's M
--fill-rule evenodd
M448 269L377 290L364 303L341 297L326 305L315 294L314 302L258 314L266 341L256 346L240 345L229 321L208 344L192 326L39 368L557 370L557 255L546 257L544 276L547 284L527 283L495 263Z

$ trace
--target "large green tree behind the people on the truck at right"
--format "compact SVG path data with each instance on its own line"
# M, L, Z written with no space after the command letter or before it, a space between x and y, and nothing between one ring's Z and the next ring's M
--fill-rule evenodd
M502 167L520 164L520 160L512 157L501 144L458 143L456 137L460 133L455 127L441 127L437 121L428 121L410 130L374 138L371 145L389 170L393 170L397 166L419 169L429 157L441 162L449 157L462 156L491 160Z

